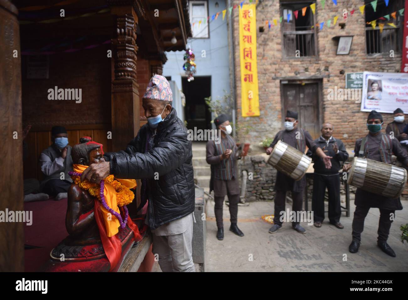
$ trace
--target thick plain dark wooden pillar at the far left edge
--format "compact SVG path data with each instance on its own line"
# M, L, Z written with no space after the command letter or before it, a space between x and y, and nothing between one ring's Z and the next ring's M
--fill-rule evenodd
M24 210L20 25L16 7L0 0L0 211ZM9 213L6 212L8 210ZM28 213L28 212L27 212ZM36 222L31 216L31 221ZM0 271L24 271L24 223L0 222Z

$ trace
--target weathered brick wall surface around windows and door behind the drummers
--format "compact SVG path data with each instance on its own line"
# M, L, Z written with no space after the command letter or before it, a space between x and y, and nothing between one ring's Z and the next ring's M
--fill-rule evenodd
M239 5L239 0L233 4ZM332 100L327 98L329 88L345 88L345 75L339 72L399 72L401 67L401 55L395 54L394 58L389 55L368 57L366 55L365 18L361 15L358 7L364 5L363 0L341 1L337 6L333 2L326 1L324 9L320 2L316 5L315 23L327 21L334 15L341 16L343 9L356 9L353 16L343 20L341 17L337 24L330 28L324 25L324 29L317 29L317 59L299 58L282 60L282 37L279 24L279 1L262 1L257 7L257 29L264 26L265 31L257 30L257 66L259 84L259 117L242 117L241 107L241 79L239 66L239 26L238 18L233 18L234 24L234 47L235 47L235 81L237 86L237 121L239 124L238 139L250 142L251 146L257 144L266 137L274 137L282 128L280 80L273 77L281 76L330 76L322 79L322 117L324 122L330 121L335 126L334 136L344 141L346 146L354 146L355 140L366 135L366 119L368 113L360 112L360 104L355 101ZM238 9L234 9L233 16L237 16ZM301 15L301 14L299 14ZM271 26L268 30L265 20L278 20L277 26ZM340 29L339 22L346 22L344 29ZM349 55L336 55L337 42L332 38L336 35L354 35L353 44ZM328 68L328 71L324 71ZM386 124L392 121L391 114L383 114L385 132Z

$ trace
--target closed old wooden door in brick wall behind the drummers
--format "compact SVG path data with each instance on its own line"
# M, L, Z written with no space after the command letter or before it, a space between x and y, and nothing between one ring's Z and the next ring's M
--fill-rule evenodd
M320 136L318 84L284 84L282 97L284 114L286 110L296 111L299 126L317 139Z

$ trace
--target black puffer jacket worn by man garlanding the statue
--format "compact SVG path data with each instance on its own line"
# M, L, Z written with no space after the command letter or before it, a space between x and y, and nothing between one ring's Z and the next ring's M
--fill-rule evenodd
M148 130L145 124L126 151L109 152L105 158L111 161L111 174L117 178L148 179L149 225L156 229L194 211L193 151L174 108L159 123L153 148L145 153ZM142 191L144 188L142 184Z

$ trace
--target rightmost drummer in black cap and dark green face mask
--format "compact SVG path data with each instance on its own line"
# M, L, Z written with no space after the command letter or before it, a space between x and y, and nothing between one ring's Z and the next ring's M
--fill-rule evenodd
M394 153L404 166L408 165L408 156L401 149L398 139L392 139L389 135L381 133L383 118L380 113L372 110L368 115L367 128L368 135L357 139L355 143L355 157L365 157L375 161L391 164L391 155ZM343 170L348 171L351 163L344 165ZM391 223L396 210L402 210L399 198L391 199L357 188L355 194L356 209L353 218L353 240L348 247L351 253L356 253L361 242L361 232L364 229L364 219L371 207L379 208L380 218L378 224L378 247L389 256L395 257L395 252L387 244Z

